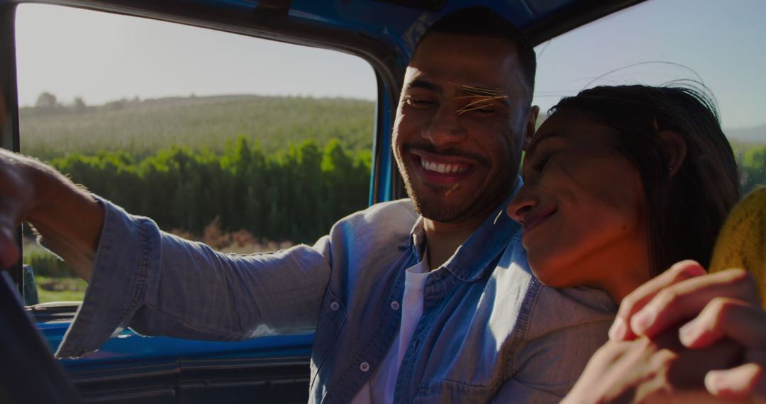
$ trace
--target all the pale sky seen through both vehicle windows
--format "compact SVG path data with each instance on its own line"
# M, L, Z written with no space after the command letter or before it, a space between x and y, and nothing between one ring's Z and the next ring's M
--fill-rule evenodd
M696 80L727 128L766 124L766 2L650 0L541 44L534 102L597 84ZM19 100L63 103L219 94L375 99L348 54L51 5L17 13Z

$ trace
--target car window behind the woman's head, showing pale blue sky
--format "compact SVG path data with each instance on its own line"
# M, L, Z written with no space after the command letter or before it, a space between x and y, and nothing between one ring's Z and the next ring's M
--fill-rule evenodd
M717 100L743 195L766 184L766 3L650 0L546 41L534 103L598 85L703 84Z

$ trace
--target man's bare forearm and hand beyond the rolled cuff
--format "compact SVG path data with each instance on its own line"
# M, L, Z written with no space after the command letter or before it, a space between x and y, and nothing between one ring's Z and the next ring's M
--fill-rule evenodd
M41 161L0 150L0 267L17 262L15 228L28 221L44 242L90 280L103 207Z

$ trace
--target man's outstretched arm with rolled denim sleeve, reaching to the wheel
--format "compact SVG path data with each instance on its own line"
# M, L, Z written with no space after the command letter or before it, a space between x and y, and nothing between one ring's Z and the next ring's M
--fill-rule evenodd
M32 223L89 282L57 351L80 357L115 330L208 340L316 327L329 239L252 256L215 252L98 201L53 168L0 151L0 265L18 261L13 233ZM103 234L102 234L103 232Z

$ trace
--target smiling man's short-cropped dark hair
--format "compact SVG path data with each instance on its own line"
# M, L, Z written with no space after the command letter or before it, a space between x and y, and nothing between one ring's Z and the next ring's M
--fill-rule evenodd
M510 21L503 18L502 15L483 6L461 8L460 10L452 11L434 22L423 34L418 44L431 32L499 37L509 41L510 44L516 47L522 75L529 85L529 98L532 99L532 93L535 90L535 70L537 69L535 49L529 43L526 36L515 25L511 24Z

